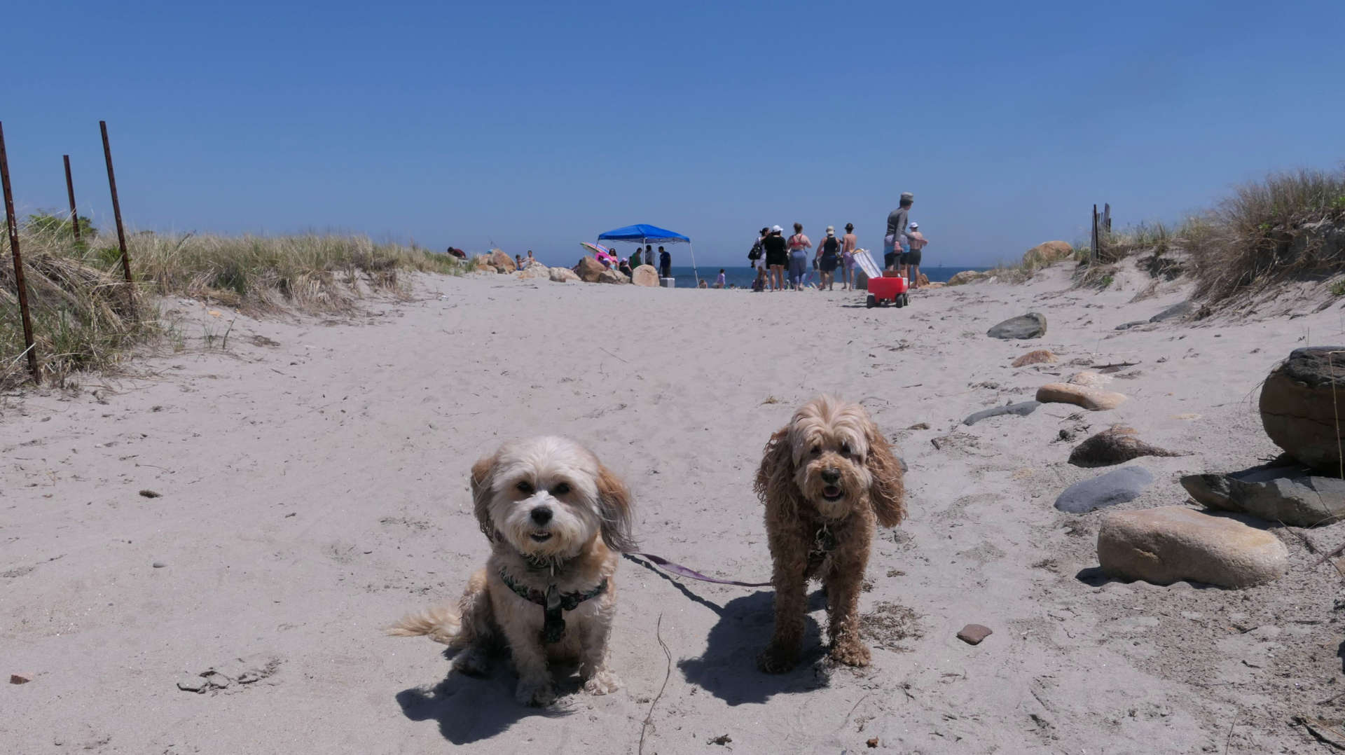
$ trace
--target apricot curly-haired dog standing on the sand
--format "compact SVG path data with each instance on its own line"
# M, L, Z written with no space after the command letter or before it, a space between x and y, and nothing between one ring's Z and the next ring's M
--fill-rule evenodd
M808 580L827 595L830 657L869 665L859 639L859 584L869 564L874 522L905 517L901 463L863 406L820 396L771 436L756 493L775 569L775 635L757 666L777 674L799 662Z

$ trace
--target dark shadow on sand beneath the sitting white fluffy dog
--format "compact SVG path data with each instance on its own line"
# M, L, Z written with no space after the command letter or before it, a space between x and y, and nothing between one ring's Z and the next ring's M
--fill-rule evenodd
M452 657L452 650L444 651ZM402 715L413 721L438 721L438 732L453 744L471 744L507 731L515 723L539 716L560 719L572 713L557 703L549 708L529 708L514 700L518 677L508 670L508 658L492 659L486 677L449 673L430 689L413 686L397 693ZM557 676L555 692L566 696L580 688L577 677Z

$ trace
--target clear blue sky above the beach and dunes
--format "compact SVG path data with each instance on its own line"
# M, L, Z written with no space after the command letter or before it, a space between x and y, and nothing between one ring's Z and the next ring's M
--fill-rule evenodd
M646 222L745 264L763 225L989 265L1345 159L1345 3L54 3L4 15L20 213L340 230L549 264ZM674 252L681 252L674 249ZM678 256L675 264L685 264Z

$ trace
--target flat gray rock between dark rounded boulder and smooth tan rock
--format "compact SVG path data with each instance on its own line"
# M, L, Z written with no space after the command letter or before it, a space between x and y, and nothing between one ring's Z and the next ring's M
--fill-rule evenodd
M1299 464L1186 475L1181 484L1210 509L1241 511L1270 522L1311 528L1345 519L1345 480L1314 475Z

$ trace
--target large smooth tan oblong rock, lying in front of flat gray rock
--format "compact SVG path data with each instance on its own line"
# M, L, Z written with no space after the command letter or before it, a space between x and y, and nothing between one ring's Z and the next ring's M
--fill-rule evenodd
M1098 530L1104 572L1154 584L1181 580L1252 587L1289 571L1289 549L1241 521L1181 506L1115 511Z

